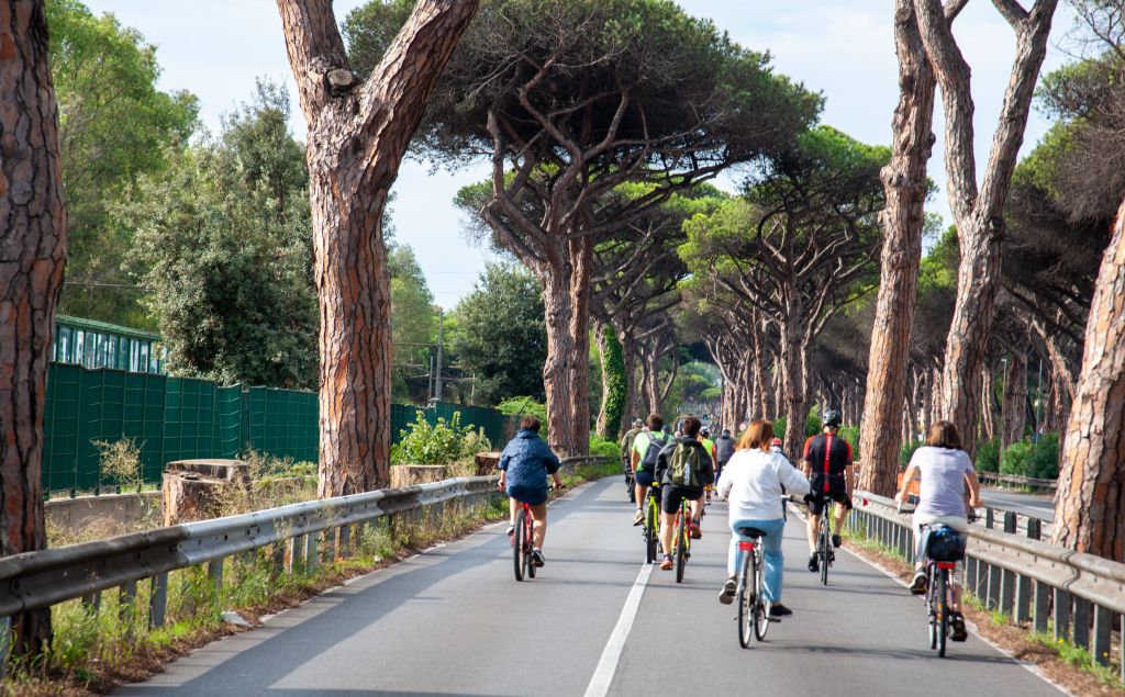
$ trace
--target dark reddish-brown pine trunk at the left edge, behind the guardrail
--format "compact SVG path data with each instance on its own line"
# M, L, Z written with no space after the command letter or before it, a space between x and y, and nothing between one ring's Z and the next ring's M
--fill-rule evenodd
M58 107L39 0L0 6L0 555L46 547L43 407L66 263ZM14 618L17 655L51 641L51 610Z

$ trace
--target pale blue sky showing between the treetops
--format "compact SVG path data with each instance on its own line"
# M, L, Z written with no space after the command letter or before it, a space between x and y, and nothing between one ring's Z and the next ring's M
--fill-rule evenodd
M777 72L824 93L821 123L865 143L890 143L891 116L898 101L890 0L677 1L690 15L713 19L741 45L768 52ZM1030 4L1030 0L1023 2ZM338 20L362 3L335 0ZM195 93L207 128L217 130L222 115L250 99L255 79L268 78L288 85L294 135L304 138L304 116L273 0L86 0L86 4L99 15L112 12L156 46L163 67L160 88ZM1060 3L1044 71L1066 62L1065 34L1071 17L1066 3ZM954 35L972 69L976 162L981 168L988 161L1015 38L987 0L969 3L954 24ZM929 174L939 190L929 208L948 224L940 106L936 111L937 144ZM1022 154L1027 154L1048 127L1044 116L1033 111ZM488 169L477 164L449 171L432 164L404 163L393 190L392 220L396 239L414 248L434 301L452 309L472 290L490 257L487 250L467 241L453 196L465 184L487 176ZM717 183L734 191L739 179L736 173Z

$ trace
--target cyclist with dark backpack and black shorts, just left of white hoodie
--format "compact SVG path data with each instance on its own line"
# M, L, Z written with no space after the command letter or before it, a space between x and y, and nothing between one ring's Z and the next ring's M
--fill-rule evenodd
M692 537L702 537L700 515L703 510L704 487L714 481L714 464L699 435L703 424L694 416L684 419L684 436L676 438L656 458L656 478L660 482L660 545L664 561L660 568L672 569L672 535L676 524L676 513L684 499L692 504Z

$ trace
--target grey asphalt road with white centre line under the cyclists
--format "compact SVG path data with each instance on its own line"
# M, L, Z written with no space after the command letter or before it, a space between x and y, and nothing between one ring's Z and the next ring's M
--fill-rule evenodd
M673 572L642 563L622 489L603 480L551 506L547 565L534 580L514 580L496 524L116 694L1060 694L975 635L937 658L921 601L846 552L821 587L804 569L803 523L793 515L784 601L795 614L774 624L765 643L740 649L735 606L717 598L729 540L724 506L704 518L685 582L676 585Z

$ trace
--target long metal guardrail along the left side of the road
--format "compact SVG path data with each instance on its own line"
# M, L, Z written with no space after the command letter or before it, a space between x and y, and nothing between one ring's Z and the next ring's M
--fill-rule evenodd
M76 598L96 604L97 594L111 588L120 588L123 603L132 604L137 582L151 579L148 624L160 626L170 571L206 563L217 591L225 559L277 544L290 545L290 568L315 569L322 554L331 561L350 555L353 526L453 499L484 500L497 494L496 482L496 477L447 479L6 556L0 559L0 676L7 627L18 613ZM285 559L280 552L278 565Z

